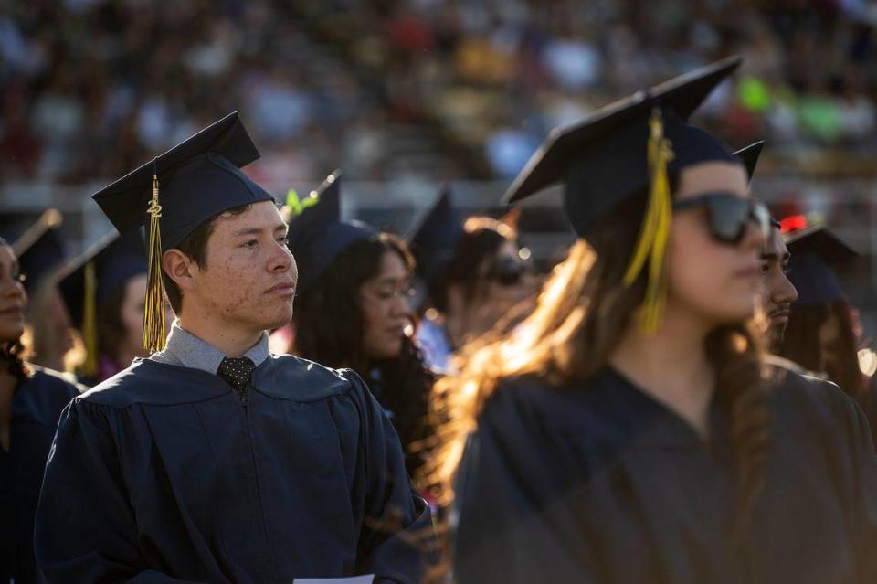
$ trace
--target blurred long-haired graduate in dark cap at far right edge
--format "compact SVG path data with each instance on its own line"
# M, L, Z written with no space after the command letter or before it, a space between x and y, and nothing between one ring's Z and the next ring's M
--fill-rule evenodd
M810 227L786 236L789 280L798 291L780 355L838 384L877 424L877 403L859 366L861 333L836 270L859 256L828 228Z

